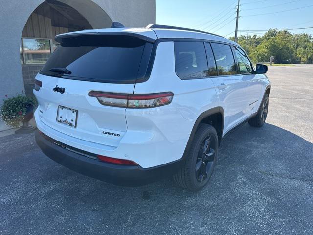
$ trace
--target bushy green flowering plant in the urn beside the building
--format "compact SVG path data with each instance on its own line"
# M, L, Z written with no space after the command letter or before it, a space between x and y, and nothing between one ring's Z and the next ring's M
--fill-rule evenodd
M23 91L22 94L17 94L15 97L7 98L7 95L5 97L0 110L0 117L7 125L17 128L27 111L29 112L32 107L37 106L37 101L25 96Z

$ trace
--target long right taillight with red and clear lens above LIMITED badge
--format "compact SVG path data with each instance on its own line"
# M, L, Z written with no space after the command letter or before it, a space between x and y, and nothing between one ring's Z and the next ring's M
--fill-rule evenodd
M154 108L170 104L174 94L172 92L154 94L120 94L91 91L88 94L96 97L100 104L124 108Z

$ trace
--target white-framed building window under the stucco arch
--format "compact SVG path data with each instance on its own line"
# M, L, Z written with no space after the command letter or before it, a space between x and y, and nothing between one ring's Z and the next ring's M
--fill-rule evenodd
M23 64L45 64L51 55L50 39L22 38Z

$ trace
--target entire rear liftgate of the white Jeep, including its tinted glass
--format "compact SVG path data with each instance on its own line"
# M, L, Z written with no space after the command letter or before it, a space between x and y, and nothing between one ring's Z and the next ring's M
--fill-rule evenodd
M42 82L34 90L41 121L75 138L118 146L127 131L125 108L102 105L88 94L132 94L151 50L151 43L125 35L67 38L36 76Z

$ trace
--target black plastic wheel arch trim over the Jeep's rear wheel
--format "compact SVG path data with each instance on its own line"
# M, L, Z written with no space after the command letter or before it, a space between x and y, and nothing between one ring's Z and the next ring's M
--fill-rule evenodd
M219 145L220 145L222 141L223 129L224 129L224 109L222 107L215 107L215 108L206 110L199 115L190 133L189 140L187 142L187 145L183 154L183 158L186 156L186 153L188 152L188 149L191 145L191 142L194 139L195 133L198 130L200 123L210 124L215 128L218 134Z

